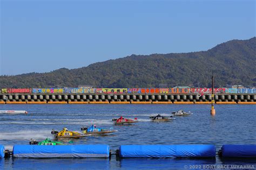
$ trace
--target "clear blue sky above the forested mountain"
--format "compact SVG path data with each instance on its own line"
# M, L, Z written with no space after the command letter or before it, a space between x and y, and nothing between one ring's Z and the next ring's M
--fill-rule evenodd
M254 36L255 1L1 0L0 75L204 51Z

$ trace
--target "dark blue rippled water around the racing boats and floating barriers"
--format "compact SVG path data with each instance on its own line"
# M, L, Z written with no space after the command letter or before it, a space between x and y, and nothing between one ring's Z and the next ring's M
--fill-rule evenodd
M193 112L171 122L150 122L150 115L170 115L183 109ZM111 150L119 145L146 144L256 144L256 105L215 105L217 114L210 115L210 105L136 105L136 104L60 104L0 105L0 110L27 110L28 115L0 115L0 144L12 149L14 144L29 144L29 139L52 138L51 129L80 131L81 126L96 124L99 128L118 130L106 136L73 139L75 144L107 144ZM114 125L112 118L138 118L133 125ZM53 138L52 138L53 139ZM64 140L66 141L66 140ZM220 165L254 165L255 160L198 159L5 159L5 168L203 168ZM90 165L90 166L89 166ZM196 165L196 166L195 166ZM211 167L206 167L211 168ZM217 167L215 167L217 168Z

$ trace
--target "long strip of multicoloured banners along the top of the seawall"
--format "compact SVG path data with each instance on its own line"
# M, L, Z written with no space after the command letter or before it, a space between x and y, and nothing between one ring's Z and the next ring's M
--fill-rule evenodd
M4 88L0 93L211 94L211 88ZM214 94L256 94L256 88L214 88Z

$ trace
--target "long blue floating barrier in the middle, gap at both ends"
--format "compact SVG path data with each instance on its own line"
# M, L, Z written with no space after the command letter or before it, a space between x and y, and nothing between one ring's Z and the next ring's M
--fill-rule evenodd
M215 157L214 145L122 145L121 158L209 158Z

